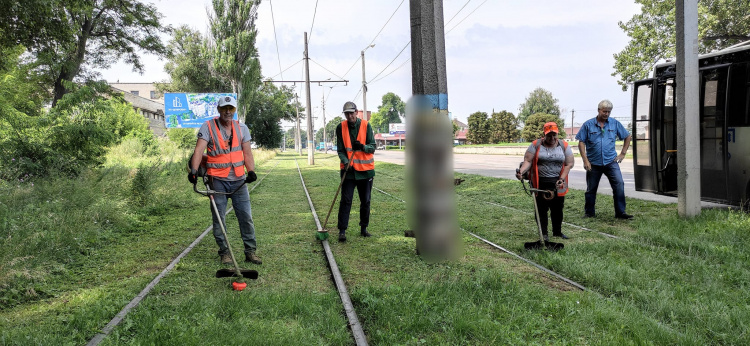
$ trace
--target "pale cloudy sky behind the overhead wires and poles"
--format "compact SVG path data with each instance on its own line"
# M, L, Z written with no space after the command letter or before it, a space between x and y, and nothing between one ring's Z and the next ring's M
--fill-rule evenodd
M208 32L210 1L148 2L163 14L164 24ZM602 99L614 104L612 117L627 121L631 95L611 76L613 54L629 41L618 22L639 12L640 5L627 0L444 0L448 110L463 122L477 111L518 115L529 94L542 87L558 99L566 127L573 111L576 126L596 116ZM256 25L264 79L304 80L307 32L310 79L349 81L311 86L316 129L324 98L326 121L341 116L346 101L362 108L359 57L365 48L368 111L377 111L388 92L405 102L411 97L411 47L404 49L411 40L408 0L263 0ZM375 46L368 48L371 43ZM142 58L143 75L117 63L100 71L102 77L123 83L168 80L164 60L145 53ZM295 87L304 105L304 86Z

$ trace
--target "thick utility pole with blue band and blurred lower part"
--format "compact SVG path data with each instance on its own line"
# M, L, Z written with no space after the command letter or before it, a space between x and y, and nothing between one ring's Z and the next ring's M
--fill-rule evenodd
M442 0L409 0L412 93L406 146L410 224L417 251L428 261L458 256L454 201L453 128L448 119Z

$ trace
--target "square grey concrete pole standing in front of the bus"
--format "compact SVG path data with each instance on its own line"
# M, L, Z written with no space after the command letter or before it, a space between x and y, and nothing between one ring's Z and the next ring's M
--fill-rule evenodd
M677 212L701 213L698 0L677 0Z

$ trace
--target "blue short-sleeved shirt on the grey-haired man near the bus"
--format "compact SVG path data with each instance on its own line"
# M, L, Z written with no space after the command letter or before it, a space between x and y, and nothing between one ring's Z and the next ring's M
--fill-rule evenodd
M586 157L592 165L605 166L617 158L615 141L628 136L630 132L616 119L609 118L604 127L599 127L599 122L593 118L583 123L576 139L586 144Z

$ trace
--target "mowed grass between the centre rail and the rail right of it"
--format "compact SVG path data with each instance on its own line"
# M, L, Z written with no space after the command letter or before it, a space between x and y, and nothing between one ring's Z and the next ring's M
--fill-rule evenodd
M303 168L320 214L338 184L338 162L329 161ZM377 163L380 171L384 177L376 173L375 187L394 196L406 191L403 179L386 177L403 176L403 167ZM414 239L403 236L405 204L377 191L373 237L362 238L358 206L355 197L348 241L331 246L373 344L689 343L634 306L571 291L474 238L462 238L464 252L455 261L426 263L416 256ZM496 218L489 209L484 213Z

